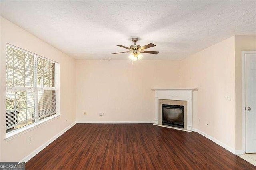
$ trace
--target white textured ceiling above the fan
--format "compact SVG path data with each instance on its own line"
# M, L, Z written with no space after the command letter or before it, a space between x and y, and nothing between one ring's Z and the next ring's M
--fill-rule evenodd
M76 59L128 59L116 45L154 43L144 59L183 59L256 35L256 1L1 1L1 16Z

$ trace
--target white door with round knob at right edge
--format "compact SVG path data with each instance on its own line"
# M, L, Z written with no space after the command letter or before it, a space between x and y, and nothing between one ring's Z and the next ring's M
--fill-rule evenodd
M245 152L256 153L256 53L245 54Z

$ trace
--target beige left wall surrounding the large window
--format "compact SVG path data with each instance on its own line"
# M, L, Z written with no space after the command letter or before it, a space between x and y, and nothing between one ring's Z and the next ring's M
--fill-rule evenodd
M20 161L75 121L75 60L1 17L0 148L1 161ZM60 63L60 113L58 119L6 142L5 62L6 43ZM28 144L28 136L32 143Z

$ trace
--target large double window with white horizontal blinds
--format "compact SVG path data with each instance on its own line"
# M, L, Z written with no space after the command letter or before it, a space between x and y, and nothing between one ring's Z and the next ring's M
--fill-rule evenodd
M6 133L56 115L56 65L6 47Z

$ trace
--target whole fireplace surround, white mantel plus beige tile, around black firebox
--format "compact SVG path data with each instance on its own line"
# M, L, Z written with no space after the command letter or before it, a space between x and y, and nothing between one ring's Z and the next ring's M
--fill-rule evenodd
M192 131L192 91L196 88L153 88L155 91L155 123L154 125L175 128L178 130L185 130L188 132ZM172 127L169 125L162 124L162 108L160 104L169 104L169 103L160 103L162 100L166 101L178 101L186 102L186 111L184 109L184 127ZM170 105L173 105L172 103ZM176 105L176 104L175 104ZM177 104L180 105L180 104ZM185 104L184 104L185 105ZM184 108L185 108L184 107ZM185 113L186 112L186 113Z

